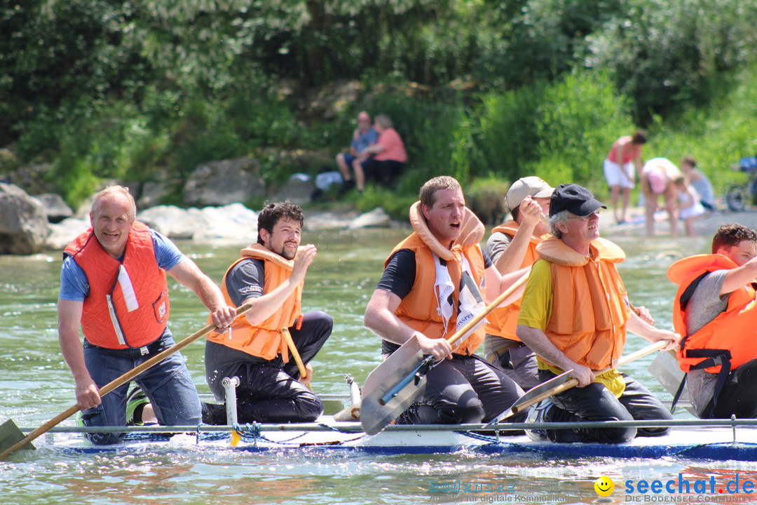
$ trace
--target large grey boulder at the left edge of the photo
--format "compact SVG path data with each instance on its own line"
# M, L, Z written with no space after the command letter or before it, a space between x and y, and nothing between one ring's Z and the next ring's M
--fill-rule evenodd
M48 235L45 209L16 185L0 182L0 254L36 254Z

